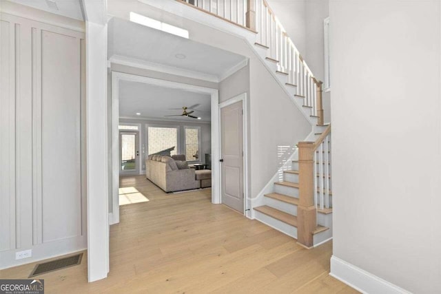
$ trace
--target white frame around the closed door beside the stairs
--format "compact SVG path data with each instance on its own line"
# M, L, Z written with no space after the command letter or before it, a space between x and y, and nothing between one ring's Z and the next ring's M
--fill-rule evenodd
M243 123L243 214L247 216L247 218L251 218L251 199L249 198L249 186L248 186L248 97L247 93L239 94L238 96L234 96L229 98L227 101L223 103L219 103L218 107L218 129L219 129L219 156L221 152L222 140L220 138L220 110L223 107L227 107L234 103L242 101L242 123ZM220 174L220 173L219 173ZM222 178L220 174L220 184L222 183ZM222 185L220 185L220 189L222 189ZM222 192L222 191L220 191ZM222 196L222 193L220 193ZM222 198L220 198L222 201Z

